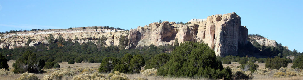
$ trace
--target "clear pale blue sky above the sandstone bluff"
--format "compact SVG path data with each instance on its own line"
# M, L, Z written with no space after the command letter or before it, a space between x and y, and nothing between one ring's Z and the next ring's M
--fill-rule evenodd
M248 34L303 52L303 0L0 0L0 32L110 26L135 29L235 12Z

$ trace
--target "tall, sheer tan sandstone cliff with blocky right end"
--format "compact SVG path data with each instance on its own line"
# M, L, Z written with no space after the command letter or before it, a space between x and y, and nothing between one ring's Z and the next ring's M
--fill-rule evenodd
M213 48L217 56L236 55L238 45L247 43L248 29L241 26L241 18L236 13L212 15L206 21L196 20L189 25L169 23L150 23L148 26L130 30L126 49L140 48L153 44L172 45L178 42L203 41ZM193 20L195 21L195 20Z

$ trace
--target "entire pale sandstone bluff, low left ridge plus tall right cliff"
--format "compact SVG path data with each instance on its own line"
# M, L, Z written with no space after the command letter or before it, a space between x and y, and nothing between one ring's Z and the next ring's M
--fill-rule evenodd
M212 15L207 19L192 19L188 25L164 21L162 23L150 23L144 27L129 31L116 29L50 29L44 31L17 32L1 35L0 48L15 48L25 45L28 37L33 39L29 46L40 43L48 44L45 40L49 34L55 38L62 35L65 39L71 38L73 42L96 42L96 38L105 35L108 37L107 46L117 45L120 35L128 35L129 43L125 49L141 48L153 44L155 46L173 45L175 39L178 42L205 42L213 48L217 56L236 55L238 45L247 44L248 29L241 26L241 18L236 13ZM79 38L79 40L75 40Z

